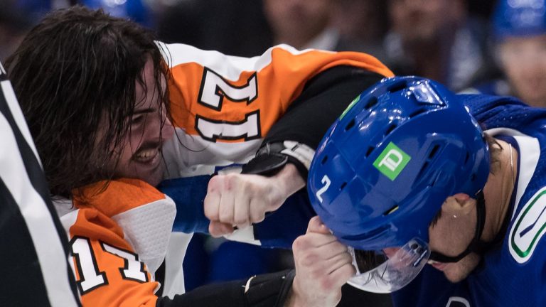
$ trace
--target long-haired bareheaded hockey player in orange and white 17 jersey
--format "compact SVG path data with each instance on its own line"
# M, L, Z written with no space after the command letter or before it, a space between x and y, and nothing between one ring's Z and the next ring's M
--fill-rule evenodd
M198 226L252 233L248 225L304 186L316 144L347 102L392 75L378 60L283 45L235 58L156 43L132 22L75 7L38 24L9 69L71 239L84 306L336 303L338 291L328 288L353 269L332 239L323 255L338 261L296 266L304 274L293 286L293 274L282 272L175 297L184 291L193 211L203 204L186 194L175 205L155 185L245 163L243 174L208 183L203 214L211 222ZM169 237L173 221L186 233ZM324 230L309 227L331 238Z

